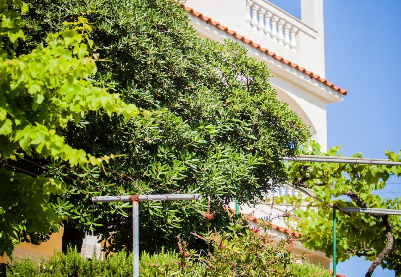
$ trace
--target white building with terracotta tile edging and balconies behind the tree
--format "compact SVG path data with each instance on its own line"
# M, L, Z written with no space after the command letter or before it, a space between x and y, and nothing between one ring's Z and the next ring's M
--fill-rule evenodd
M312 138L327 149L326 105L343 99L347 91L324 79L323 0L300 0L301 20L267 0L186 0L191 23L199 36L222 41L232 39L248 49L248 55L265 62L273 78L271 84L280 100L298 113L310 127ZM298 194L292 187L280 189L276 195ZM262 202L269 202L263 199ZM231 209L235 204L230 205ZM241 205L241 213L252 214L250 224L272 213L279 215L288 207L261 203ZM275 219L272 235L277 238L300 234L295 223ZM302 236L301 236L302 238ZM297 243L294 252L315 253L312 263L329 268L324 253L310 251Z

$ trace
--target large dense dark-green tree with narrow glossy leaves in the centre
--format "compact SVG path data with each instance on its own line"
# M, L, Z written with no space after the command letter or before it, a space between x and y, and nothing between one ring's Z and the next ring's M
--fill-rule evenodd
M67 126L66 141L76 149L95 157L119 155L107 167L14 162L67 184L49 201L65 227L113 233L115 250L130 243L128 203L92 204L93 196L199 192L211 197L212 224L221 225L223 205L234 198L251 203L271 189L270 178L284 181L280 158L296 153L309 134L277 100L265 63L231 40L199 38L180 4L165 0L30 1L23 17L29 32L17 52L30 52L48 32L64 30L63 21L80 15L93 26L93 54L104 59L93 84L111 87L151 116L122 122L91 112ZM142 249L205 231L199 211L206 206L141 203Z

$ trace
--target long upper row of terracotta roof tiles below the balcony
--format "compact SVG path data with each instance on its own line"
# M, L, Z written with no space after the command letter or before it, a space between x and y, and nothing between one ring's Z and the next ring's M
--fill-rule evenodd
M188 10L194 16L197 16L198 18L205 20L207 23L214 25L217 29L223 30L228 34L231 34L233 37L238 38L239 40L242 40L243 42L257 48L258 50L261 50L262 52L275 58L276 60L279 60L280 62L284 62L285 64L292 66L292 67L296 68L297 70L302 71L305 74L308 74L310 76L310 78L314 78L314 79L326 84L327 86L330 86L334 90L337 90L338 92L340 92L344 95L346 95L348 93L348 91L346 89L340 88L339 86L335 86L333 83L328 82L326 79L321 79L319 75L314 74L312 71L308 71L305 68L300 67L298 64L292 63L290 60L285 60L283 57L277 56L275 53L270 52L268 49L262 48L259 44L253 43L252 40L245 38L245 36L238 35L237 32L235 32L233 30L229 30L228 27L220 25L220 23L217 21L213 21L210 17L203 16L203 14L200 12L195 12L193 8L190 8L187 6L182 6L182 7L185 10Z

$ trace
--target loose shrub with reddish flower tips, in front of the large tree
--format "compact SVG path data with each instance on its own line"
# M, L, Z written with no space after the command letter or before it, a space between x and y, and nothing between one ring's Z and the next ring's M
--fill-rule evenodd
M269 223L262 222L256 229L250 229L243 223L241 219L230 221L229 233L215 229L207 236L194 234L208 244L210 250L207 251L188 250L188 243L178 237L179 255L175 259L169 263L155 261L149 265L167 275L292 276L288 266L298 256L290 252L291 237L277 242L267 233Z

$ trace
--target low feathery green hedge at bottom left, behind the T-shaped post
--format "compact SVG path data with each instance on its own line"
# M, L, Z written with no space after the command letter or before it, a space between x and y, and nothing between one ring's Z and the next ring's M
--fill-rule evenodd
M178 256L178 253L164 249L153 255L143 252L140 259L141 275L160 276L177 270L178 264L172 261L177 260ZM168 271L163 271L159 265L169 266ZM20 258L7 268L7 275L20 277L131 277L132 253L128 254L125 251L111 253L105 260L97 259L95 256L92 259L86 259L76 249L69 247L66 253L56 252L48 262L43 257L39 261Z

